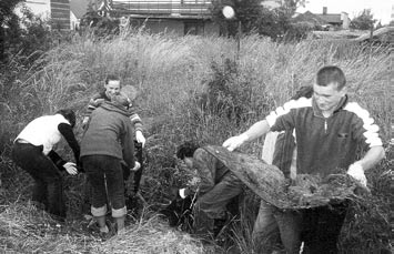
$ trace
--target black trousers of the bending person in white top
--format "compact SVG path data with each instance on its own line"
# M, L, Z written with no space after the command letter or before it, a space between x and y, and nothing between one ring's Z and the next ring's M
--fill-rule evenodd
M42 153L42 146L17 141L11 156L36 182L32 201L43 204L49 213L65 219L62 176L53 162Z

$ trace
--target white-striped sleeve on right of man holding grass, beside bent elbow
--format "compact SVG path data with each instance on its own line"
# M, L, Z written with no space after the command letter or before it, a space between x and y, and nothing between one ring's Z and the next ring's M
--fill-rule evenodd
M356 102L347 103L344 110L357 116L357 121L354 124L354 133L357 140L364 141L370 148L383 144L378 135L378 126L366 110Z

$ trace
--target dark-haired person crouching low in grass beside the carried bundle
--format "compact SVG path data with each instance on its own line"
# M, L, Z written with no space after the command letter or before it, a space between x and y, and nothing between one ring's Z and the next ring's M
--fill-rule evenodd
M213 240L215 221L225 219L226 205L243 192L244 184L204 148L186 142L178 149L176 156L189 169L195 169L200 176L193 209L193 234L202 240ZM183 197L188 193L180 195Z

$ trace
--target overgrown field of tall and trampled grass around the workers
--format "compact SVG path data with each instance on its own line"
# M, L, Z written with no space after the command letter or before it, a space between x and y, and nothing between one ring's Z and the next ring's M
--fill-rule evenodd
M391 241L393 205L392 169L392 55L382 49L351 43L302 41L277 44L251 35L236 43L224 38L175 38L169 34L124 33L97 40L75 38L34 62L16 58L0 77L0 250L10 253L208 253L188 234L174 231L156 216L156 207L171 199L171 189L188 182L191 174L179 166L175 148L184 141L222 144L276 105L301 85L312 84L325 64L341 67L350 95L374 116L387 151L378 166L367 173L373 195L370 205L354 206L346 219L341 248L380 250ZM85 230L81 219L83 175L65 177L68 222L57 227L49 216L29 202L31 179L9 159L12 140L32 119L72 108L78 113L75 133L92 93L103 87L108 73L118 73L123 84L138 91L137 110L145 123L147 171L141 193L148 205L140 216L129 216L128 233L101 242ZM209 103L206 103L209 102ZM242 148L260 156L262 141ZM63 143L58 151L72 159ZM256 204L256 199L249 199ZM245 201L244 201L245 202ZM250 203L249 203L250 204ZM216 246L225 253L235 245L251 253L251 225L255 205L242 205L242 222Z

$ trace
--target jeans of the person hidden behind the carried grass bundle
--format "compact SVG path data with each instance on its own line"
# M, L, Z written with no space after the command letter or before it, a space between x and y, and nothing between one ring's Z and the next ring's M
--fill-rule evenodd
M299 253L301 245L302 213L279 211L261 201L257 219L252 233L256 253L271 253L272 236L280 231L286 253Z

